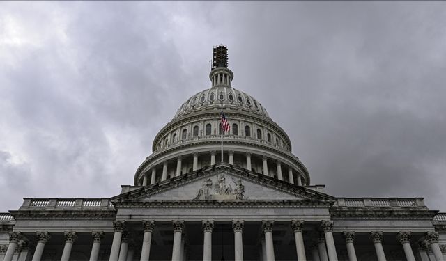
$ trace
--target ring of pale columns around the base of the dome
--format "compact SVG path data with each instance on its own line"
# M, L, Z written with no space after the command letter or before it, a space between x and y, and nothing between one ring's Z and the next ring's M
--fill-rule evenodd
M227 152L228 154L228 158L229 158L229 164L233 165L234 164L234 155L235 152L233 152L232 150L229 150ZM210 152L210 165L215 165L216 164L216 160L215 160L215 156L217 155L217 152L215 150ZM252 154L249 152L244 152L243 154L238 154L238 155L245 155L245 168L248 171L252 171ZM284 168L286 169L285 173L282 173L282 161L279 161L277 159L271 159L269 157L266 157L265 155L260 156L257 155L257 157L261 157L261 162L262 162L262 172L263 175L266 176L272 176L270 175L270 163L268 163L268 161L272 161L273 164L275 164L275 169L276 169L276 174L277 174L277 179L278 180L285 180L285 175L286 175L286 171L288 172L288 182L291 184L297 184L298 186L302 186L302 184L305 185L305 178L302 177L302 174L300 174L299 171L294 171L293 167L290 165L286 165ZM176 166L174 167L174 175L176 177L180 176L182 174L182 169L183 169L183 162L184 162L184 158L185 157L176 157ZM165 161L162 161L162 163L157 164L156 166L152 166L152 168L147 171L146 173L144 173L144 175L142 176L141 181L139 182L139 185L141 186L147 186L147 185L152 185L155 184L157 182L156 176L157 176L157 168L159 168L159 166L162 164L162 175L161 175L161 179L160 181L163 182L164 180L167 180L167 173L168 173L168 168L169 168L169 162L171 162L172 159L167 159ZM192 154L192 171L197 171L199 169L199 154L197 152L195 152L194 154ZM296 177L296 178L294 178Z

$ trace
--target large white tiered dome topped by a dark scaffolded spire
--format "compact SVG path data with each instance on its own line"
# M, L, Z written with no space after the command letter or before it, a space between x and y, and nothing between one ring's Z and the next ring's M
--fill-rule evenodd
M157 184L221 161L247 173L309 186L307 168L291 152L284 129L258 100L232 87L233 72L227 68L224 46L214 48L209 79L211 87L181 104L174 118L157 133L153 153L137 169L134 184ZM230 125L223 135L222 111Z

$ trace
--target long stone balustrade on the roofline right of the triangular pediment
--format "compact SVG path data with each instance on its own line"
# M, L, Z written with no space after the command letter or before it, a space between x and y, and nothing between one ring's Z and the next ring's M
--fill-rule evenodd
M336 207L425 207L423 198L338 198ZM446 214L445 214L446 219Z

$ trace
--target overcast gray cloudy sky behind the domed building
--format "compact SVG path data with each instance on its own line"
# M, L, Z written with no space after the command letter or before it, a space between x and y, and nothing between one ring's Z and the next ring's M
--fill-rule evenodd
M220 43L313 184L446 211L445 2L198 1L0 3L0 212L132 184Z

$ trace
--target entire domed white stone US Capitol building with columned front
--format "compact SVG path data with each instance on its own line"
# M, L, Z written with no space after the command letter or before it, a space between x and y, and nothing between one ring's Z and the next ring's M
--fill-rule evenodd
M211 88L180 105L119 195L24 198L0 213L0 260L445 260L446 213L324 193L227 64L215 47Z

